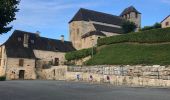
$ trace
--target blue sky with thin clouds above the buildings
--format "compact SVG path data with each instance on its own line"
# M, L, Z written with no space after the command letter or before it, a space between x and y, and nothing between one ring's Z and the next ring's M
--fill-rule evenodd
M142 26L162 21L170 14L170 0L21 0L13 30L0 35L0 44L5 42L15 29L36 32L43 37L69 40L68 22L79 10L91 10L119 15L133 5L142 13Z

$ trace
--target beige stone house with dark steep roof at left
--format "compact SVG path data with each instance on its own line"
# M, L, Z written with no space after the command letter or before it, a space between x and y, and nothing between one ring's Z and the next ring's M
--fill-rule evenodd
M75 50L71 42L41 37L39 33L15 30L0 46L0 76L36 79L37 69L63 65L65 53Z

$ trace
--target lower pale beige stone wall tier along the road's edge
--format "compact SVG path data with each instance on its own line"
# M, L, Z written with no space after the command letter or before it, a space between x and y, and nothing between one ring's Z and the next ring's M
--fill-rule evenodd
M78 80L77 75L80 76ZM92 79L90 78L92 76ZM108 80L109 77L109 80ZM86 81L94 83L108 83L112 85L126 85L126 86L158 86L170 87L170 80L139 78L131 76L116 76L116 75L102 75L85 72L67 72L66 80L69 81Z

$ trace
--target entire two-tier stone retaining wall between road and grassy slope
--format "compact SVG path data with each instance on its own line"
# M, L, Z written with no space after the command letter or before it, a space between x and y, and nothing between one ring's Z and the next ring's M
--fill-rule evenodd
M54 71L55 70L55 71ZM53 66L42 70L45 79L86 81L127 86L170 87L168 66Z

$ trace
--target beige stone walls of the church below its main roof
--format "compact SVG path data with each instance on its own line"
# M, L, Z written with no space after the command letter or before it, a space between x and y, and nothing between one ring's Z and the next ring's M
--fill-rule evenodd
M97 39L103 38L103 36L97 36L93 35L90 37L86 38L81 38L83 34L86 34L90 31L95 31L95 27L93 24L99 24L99 25L104 25L104 26L110 26L110 27L117 27L121 28L120 26L117 25L112 25L112 24L106 24L106 23L101 23L101 22L95 22L95 21L73 21L69 24L69 29L70 29L70 41L73 43L73 46L77 49L84 49L84 48L90 48L92 46L97 45ZM112 33L112 32L103 32L107 37L109 36L115 36L115 35L120 35L117 33ZM93 41L92 41L93 39Z

